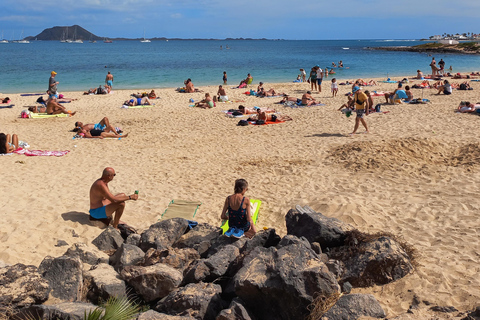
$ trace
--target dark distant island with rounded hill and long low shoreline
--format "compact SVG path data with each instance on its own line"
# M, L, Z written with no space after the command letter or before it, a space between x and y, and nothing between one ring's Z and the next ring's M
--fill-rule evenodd
M141 40L143 38L108 38L108 37L101 37L97 36L90 31L82 28L79 25L73 26L56 26L53 28L47 28L37 34L36 36L29 36L26 37L25 40L42 40L42 41L65 41L65 42L73 42L73 41L99 41L99 40ZM166 37L155 37L155 38L148 38L152 41L166 41L166 40L282 40L282 39L266 39L266 38L226 38L226 39L213 39L213 38L205 38L205 39L182 39L182 38L166 38Z

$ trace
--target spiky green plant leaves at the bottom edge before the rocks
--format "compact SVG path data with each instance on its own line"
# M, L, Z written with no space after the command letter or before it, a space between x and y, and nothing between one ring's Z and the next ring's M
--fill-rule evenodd
M110 297L103 308L98 307L88 314L85 320L130 320L135 318L140 308L130 302L127 297Z

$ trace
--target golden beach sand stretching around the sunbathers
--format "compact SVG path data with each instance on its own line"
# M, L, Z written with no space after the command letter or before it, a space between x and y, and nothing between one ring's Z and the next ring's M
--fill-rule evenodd
M58 240L90 244L102 230L89 224L89 188L107 166L117 173L109 184L113 193L140 191L122 217L140 231L157 222L172 199L201 201L195 220L219 225L225 197L235 179L245 178L247 196L263 201L259 229L274 227L285 235L284 215L296 204L308 204L361 231L391 232L412 245L418 263L413 274L354 290L373 293L389 317L404 313L414 295L432 305L472 309L480 298L480 118L454 109L461 100L480 100L480 84L472 82L475 90L455 90L451 96L412 89L415 97L423 94L431 102L383 105L389 113L366 117L371 133L351 137L355 117L336 111L351 86L339 86L332 98L331 78L321 94L313 94L325 106L296 109L274 104L280 98L250 97L243 94L247 90L230 86L230 99L244 103L203 110L189 107L189 99L199 100L203 93L156 89L161 99L155 107L121 109L133 91L115 90L105 96L62 92L78 98L65 105L78 112L71 118L20 119L24 106L37 97L8 94L15 107L0 109L1 132L17 133L31 150L70 153L0 157L0 261L38 266L45 256L66 251L55 246ZM264 87L301 97L309 85ZM382 83L365 89L395 88ZM215 86L200 89L217 91ZM374 101L385 102L383 97ZM227 118L222 110L240 104L275 108L293 121L237 126L239 118ZM96 123L104 116L129 137L72 139L75 121Z

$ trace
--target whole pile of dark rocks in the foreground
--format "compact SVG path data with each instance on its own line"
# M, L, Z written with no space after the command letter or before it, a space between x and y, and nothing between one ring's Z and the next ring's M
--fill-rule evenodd
M333 297L319 317L385 317L372 295L349 292L412 272L398 243L354 241L352 226L313 211L290 210L286 224L283 238L268 229L252 239L226 238L208 224L189 230L182 218L125 240L110 227L92 241L96 249L77 243L38 268L1 268L0 308L19 318L83 319L95 304L128 293L150 306L138 320L298 320L309 316L314 301ZM42 305L49 295L60 303Z

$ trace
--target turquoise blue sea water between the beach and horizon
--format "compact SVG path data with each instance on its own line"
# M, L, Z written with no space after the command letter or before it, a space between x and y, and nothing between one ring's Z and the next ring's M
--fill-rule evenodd
M288 82L296 78L299 68L308 73L314 65L324 68L339 60L349 68L337 70L338 79L413 76L417 69L425 73L430 70L431 57L424 53L367 48L420 43L399 40L8 43L0 44L0 92L43 92L52 70L58 73L60 92L98 87L104 83L107 71L114 75L116 89L180 87L187 78L197 86L220 84L223 71L227 71L228 84L232 86L247 73L252 74L255 82ZM436 56L437 61L440 58L445 60L447 68L452 65L455 72L480 69L480 56Z

